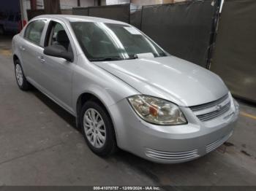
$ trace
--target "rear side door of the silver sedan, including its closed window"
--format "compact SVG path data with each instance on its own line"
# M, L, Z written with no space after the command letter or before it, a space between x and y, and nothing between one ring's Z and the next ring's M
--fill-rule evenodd
M24 73L32 84L39 86L40 69L44 50L42 44L42 34L46 30L47 20L34 20L26 27L23 40L19 44L20 55L23 63Z

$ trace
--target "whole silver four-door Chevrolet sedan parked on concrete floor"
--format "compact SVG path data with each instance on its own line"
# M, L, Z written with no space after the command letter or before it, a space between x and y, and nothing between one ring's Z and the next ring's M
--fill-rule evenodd
M97 155L119 147L180 163L233 133L238 104L222 79L127 23L42 15L13 37L12 50L18 87L33 85L74 115Z

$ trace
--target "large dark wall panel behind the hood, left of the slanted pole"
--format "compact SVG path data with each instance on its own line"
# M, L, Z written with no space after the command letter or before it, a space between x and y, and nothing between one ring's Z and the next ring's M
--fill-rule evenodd
M171 55L207 67L216 10L209 0L146 6L141 30Z

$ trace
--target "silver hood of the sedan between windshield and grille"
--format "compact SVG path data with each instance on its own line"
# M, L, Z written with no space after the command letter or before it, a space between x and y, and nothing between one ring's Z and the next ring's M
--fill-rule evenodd
M175 56L94 63L140 93L180 106L205 104L228 93L216 74Z

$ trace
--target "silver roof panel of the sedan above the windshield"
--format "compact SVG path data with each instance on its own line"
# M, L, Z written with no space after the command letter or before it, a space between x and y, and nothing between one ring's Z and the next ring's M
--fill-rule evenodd
M123 24L123 25L128 24L118 20L111 20L111 19L106 19L101 17L80 16L80 15L39 15L37 17L34 17L34 19L37 19L40 17L56 18L60 20L66 20L69 22L84 21L84 22L116 23L116 24Z

